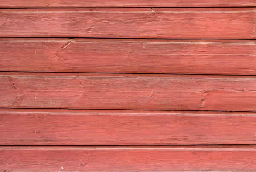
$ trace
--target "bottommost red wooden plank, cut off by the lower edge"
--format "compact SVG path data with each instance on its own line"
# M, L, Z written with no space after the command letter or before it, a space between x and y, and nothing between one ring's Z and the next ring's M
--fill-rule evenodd
M255 147L0 147L2 172L255 171Z

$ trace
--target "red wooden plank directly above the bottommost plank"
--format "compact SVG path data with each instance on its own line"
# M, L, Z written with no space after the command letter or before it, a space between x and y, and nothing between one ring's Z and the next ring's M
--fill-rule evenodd
M256 144L256 113L0 109L1 145Z

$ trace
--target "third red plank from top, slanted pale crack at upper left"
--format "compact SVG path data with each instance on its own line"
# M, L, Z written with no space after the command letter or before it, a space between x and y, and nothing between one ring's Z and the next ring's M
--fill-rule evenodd
M1 38L0 71L256 75L256 42Z

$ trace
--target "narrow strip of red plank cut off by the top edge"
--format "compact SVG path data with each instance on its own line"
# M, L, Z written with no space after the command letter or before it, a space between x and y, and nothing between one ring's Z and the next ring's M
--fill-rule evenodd
M255 0L0 0L0 8L235 7Z

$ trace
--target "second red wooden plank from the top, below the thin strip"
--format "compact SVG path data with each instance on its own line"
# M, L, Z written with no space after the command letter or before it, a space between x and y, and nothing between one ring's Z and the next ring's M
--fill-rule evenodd
M0 37L255 39L256 8L2 9Z

